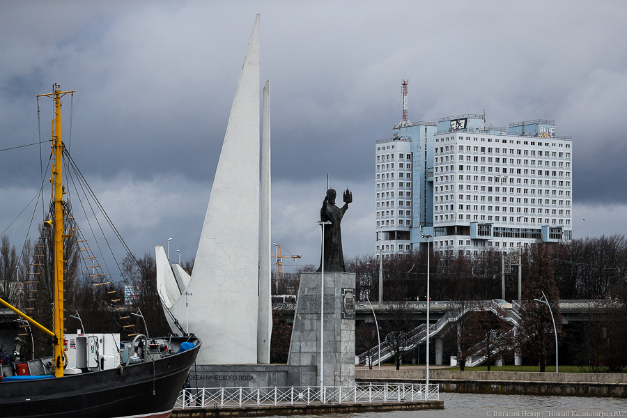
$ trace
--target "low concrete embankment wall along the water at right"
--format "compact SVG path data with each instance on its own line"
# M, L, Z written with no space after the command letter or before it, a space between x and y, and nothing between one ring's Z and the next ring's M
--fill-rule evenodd
M362 382L425 380L424 370L402 368L398 371L357 369L355 375ZM441 392L627 398L627 374L624 373L433 370L429 373L429 383L439 383Z

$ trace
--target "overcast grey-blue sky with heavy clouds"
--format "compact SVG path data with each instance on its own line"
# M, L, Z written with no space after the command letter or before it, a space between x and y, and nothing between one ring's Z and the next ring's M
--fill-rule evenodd
M0 1L0 149L38 141L36 95L75 90L63 139L132 251L171 237L171 259L195 256L256 13L272 241L303 256L286 265L319 261L327 173L353 190L344 254L373 253L375 141L401 120L403 78L411 121L555 120L574 237L626 232L625 1ZM38 147L0 152L0 179L1 233L36 194ZM24 213L5 233L18 247Z

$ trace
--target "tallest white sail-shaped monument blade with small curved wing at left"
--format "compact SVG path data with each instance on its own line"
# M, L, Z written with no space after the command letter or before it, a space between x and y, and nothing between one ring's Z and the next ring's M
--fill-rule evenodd
M268 340L269 353L269 336L265 337L268 330L258 332L259 88L257 15L217 164L194 270L189 286L180 290L178 300L172 295L176 293L176 284L171 283L173 274L169 265L165 268L157 247L157 265L162 266L157 267L157 273L161 272L157 274L157 288L160 295L162 291L167 295L162 295L164 305L172 302L172 314L179 319L189 318L189 331L203 341L196 360L199 364L256 363L258 335L260 341ZM180 297L184 293L189 295L187 312L185 297ZM173 331L179 332L176 328Z

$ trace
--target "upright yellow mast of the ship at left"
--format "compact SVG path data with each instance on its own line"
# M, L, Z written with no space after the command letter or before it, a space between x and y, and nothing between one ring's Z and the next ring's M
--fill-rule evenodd
M63 369L67 364L65 357L65 350L63 344L63 332L65 315L63 309L63 302L65 301L65 295L63 294L63 272L65 268L65 262L63 260L63 238L68 238L71 235L63 235L63 194L65 189L63 187L63 141L61 140L61 98L71 93L74 95L74 91L61 91L59 84L54 84L52 94L42 94L37 97L49 97L54 100L54 121L52 121L52 153L54 154L54 164L52 165L52 201L54 202L54 219L46 221L45 224L54 227L54 313L53 313L53 354L52 363L54 366L54 376L63 376Z

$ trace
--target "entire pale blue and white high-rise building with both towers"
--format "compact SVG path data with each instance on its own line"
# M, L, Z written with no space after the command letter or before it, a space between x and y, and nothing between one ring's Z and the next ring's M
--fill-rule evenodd
M573 141L555 134L555 121L506 130L486 126L485 114L437 124L405 114L376 142L377 256L427 240L474 255L572 239Z

